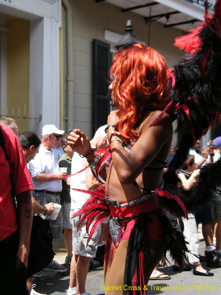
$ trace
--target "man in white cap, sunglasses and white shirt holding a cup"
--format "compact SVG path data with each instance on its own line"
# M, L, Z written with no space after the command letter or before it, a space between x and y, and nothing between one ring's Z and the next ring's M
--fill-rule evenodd
M66 172L60 172L57 164L58 154L53 150L57 147L57 142L61 139L64 130L59 130L55 125L45 125L42 128L41 146L35 158L29 162L29 170L32 175L35 200L42 206L48 203L60 204L60 191L62 183L60 177L66 176ZM42 218L50 219L50 215L45 212L40 214ZM61 211L57 218L51 223L53 239L62 238ZM45 268L45 270L63 272L67 268L59 265L56 261Z

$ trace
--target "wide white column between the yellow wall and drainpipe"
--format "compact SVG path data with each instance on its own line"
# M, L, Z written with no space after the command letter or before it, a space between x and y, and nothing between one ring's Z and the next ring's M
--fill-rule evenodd
M36 121L38 135L46 124L59 128L59 24L54 18L30 23L29 99L31 117L42 116ZM35 130L33 119L30 129Z

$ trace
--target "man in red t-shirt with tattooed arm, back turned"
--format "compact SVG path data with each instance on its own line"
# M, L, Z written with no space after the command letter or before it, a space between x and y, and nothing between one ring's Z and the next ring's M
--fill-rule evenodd
M0 294L28 295L26 281L33 186L17 137L4 124L0 126L9 161L0 147ZM18 227L11 195L10 171L18 208Z

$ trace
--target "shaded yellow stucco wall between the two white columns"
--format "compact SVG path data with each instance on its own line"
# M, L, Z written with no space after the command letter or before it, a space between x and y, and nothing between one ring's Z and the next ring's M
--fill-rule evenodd
M19 132L28 131L30 22L8 21L7 36L7 116L14 118ZM14 116L12 108L14 108Z

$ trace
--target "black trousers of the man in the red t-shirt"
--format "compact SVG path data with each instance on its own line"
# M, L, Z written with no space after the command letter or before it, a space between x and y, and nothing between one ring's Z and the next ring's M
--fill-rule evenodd
M28 295L27 268L16 255L19 233L0 241L0 295Z

